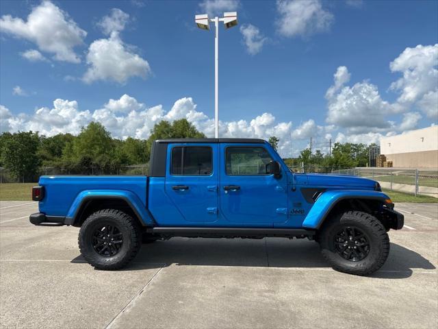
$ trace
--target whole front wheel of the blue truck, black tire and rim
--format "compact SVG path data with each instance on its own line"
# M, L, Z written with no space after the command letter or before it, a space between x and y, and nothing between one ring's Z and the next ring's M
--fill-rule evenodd
M348 211L329 221L318 234L322 256L333 269L367 276L387 260L389 236L376 217Z

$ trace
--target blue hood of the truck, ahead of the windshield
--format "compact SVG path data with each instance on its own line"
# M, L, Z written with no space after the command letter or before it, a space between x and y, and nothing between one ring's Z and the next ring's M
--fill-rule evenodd
M350 175L324 175L321 173L308 173L307 179L308 184L313 186L339 186L353 189L361 188L374 190L376 184L378 184L376 181L369 180L368 178Z

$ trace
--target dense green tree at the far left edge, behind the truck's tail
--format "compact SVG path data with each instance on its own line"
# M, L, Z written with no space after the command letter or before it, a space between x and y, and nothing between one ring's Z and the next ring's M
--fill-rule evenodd
M31 180L38 172L40 137L38 132L18 132L1 138L1 163L12 177Z

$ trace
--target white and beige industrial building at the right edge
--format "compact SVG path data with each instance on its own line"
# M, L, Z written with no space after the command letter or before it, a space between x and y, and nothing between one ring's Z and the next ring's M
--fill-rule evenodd
M438 168L438 125L381 138L381 154L393 167Z

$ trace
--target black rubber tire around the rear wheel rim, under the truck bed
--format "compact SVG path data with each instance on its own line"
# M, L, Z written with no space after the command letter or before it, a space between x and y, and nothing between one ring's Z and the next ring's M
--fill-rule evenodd
M125 228L129 232L129 248L125 254L116 254L116 260L107 261L103 256L100 256L92 246L87 245L86 234L90 226L94 225L99 219L111 219L115 221L120 228ZM123 236L125 240L125 236ZM125 212L116 209L103 209L92 213L82 224L79 230L78 237L79 250L86 261L96 269L114 270L125 267L133 258L136 257L142 245L142 235L138 223ZM91 248L90 248L91 247Z

